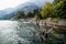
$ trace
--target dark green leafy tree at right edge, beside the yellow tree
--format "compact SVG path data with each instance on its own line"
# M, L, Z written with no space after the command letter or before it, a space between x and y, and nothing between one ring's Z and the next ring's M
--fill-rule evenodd
M66 19L66 0L59 1L55 4L54 18Z

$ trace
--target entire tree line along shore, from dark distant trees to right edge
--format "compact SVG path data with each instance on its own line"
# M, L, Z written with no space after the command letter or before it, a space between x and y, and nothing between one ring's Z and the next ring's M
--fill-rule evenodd
M23 12L18 11L16 19L26 19L26 18L35 18L37 19L46 19L46 18L59 18L66 19L66 0L54 0L54 2L45 2L45 4L34 10L33 12Z

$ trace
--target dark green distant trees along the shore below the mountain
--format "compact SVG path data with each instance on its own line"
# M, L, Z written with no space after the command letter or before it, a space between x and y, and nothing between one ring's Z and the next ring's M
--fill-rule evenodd
M32 12L24 12L24 11L18 11L15 19L26 19L26 18L34 18L34 13Z

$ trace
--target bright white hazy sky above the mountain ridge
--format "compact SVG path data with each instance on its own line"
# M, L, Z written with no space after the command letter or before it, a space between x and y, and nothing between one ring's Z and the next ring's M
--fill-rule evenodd
M42 4L42 2L43 2L43 0L0 0L0 10L4 10L7 8L14 8L21 3L26 2L26 1L33 1L33 2L38 1L36 4L38 4L40 2Z

